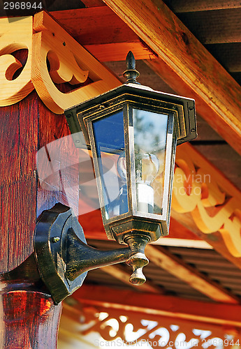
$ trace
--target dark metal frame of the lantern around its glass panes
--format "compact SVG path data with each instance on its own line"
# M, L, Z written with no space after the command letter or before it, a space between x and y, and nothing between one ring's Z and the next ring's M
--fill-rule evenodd
M143 213L136 209L133 134L130 132L132 122L131 110L133 109L168 115L161 214ZM96 120L104 119L120 110L123 110L126 168L129 168L129 171L126 171L129 211L107 219L106 204L103 199L103 181L101 181L101 171L98 164L93 124ZM193 99L165 94L131 83L123 84L101 96L81 103L66 110L65 113L76 147L79 147L79 132L82 131L87 145L90 145L92 149L103 225L108 238L115 238L117 242L122 243L126 242L127 237L136 235L136 233L143 236L146 235L151 241L168 235L176 142L178 145L196 138L196 117Z

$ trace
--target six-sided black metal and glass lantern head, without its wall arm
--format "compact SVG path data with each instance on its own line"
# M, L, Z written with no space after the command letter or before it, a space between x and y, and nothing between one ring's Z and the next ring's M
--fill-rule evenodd
M82 131L93 154L109 239L147 244L168 235L175 148L196 138L194 101L136 82L132 52L126 84L66 110L76 147Z

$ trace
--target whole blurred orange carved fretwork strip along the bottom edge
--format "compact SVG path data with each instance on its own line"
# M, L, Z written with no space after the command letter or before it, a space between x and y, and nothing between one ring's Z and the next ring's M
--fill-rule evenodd
M71 338L74 338L78 340L78 347L95 348L96 341L94 339L96 337L93 338L93 332L100 335L98 338L102 346L113 346L116 339L121 339L123 343L126 343L126 346L129 346L131 345L130 339L135 338L136 346L145 346L148 343L149 347L154 348L158 343L157 339L165 338L161 336L164 329L167 339L161 343L163 349L170 347L178 349L185 346L186 343L189 343L189 349L203 349L205 343L212 343L212 340L217 341L217 343L225 343L227 349L231 349L235 346L234 343L237 343L235 349L238 349L238 343L241 339L240 328L225 328L221 325L198 322L197 320L187 321L180 318L177 320L175 317L147 314L144 311L138 312L136 309L134 311L133 309L127 310L126 307L115 309L114 304L110 304L110 306L102 304L95 307L85 304L85 299L82 302L71 299L70 303L66 304L64 302L61 315L62 341L65 340L71 345ZM145 324L143 324L143 318ZM178 327L173 327L172 325L176 323ZM200 331L196 332L193 329L199 329ZM203 339L204 334L205 340ZM234 339L233 346L231 339L224 342L231 334L233 334L231 338ZM65 339L63 338L64 335L66 336ZM74 349L75 346L68 346L67 348Z

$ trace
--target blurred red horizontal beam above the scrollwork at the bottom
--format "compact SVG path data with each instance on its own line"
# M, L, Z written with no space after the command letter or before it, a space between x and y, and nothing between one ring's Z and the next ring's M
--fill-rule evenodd
M175 319L208 322L225 326L241 327L241 306L190 301L183 298L111 290L104 286L82 285L73 298L83 304L106 306L110 309L136 311L145 314L175 317Z

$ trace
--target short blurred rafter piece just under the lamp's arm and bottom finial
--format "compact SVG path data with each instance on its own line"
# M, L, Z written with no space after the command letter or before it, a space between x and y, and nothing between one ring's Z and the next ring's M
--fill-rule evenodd
M127 285L129 286L133 286L133 288L138 287L138 291L163 294L163 290L161 288L152 285L152 283L150 283L149 281L146 281L145 283L143 283L143 285L139 286L130 283L129 279L131 276L131 269L130 272L126 272L126 270L120 265L108 265L108 267L102 267L101 270L103 270L103 272L107 274L110 274L111 276L114 276L116 279L127 283Z

